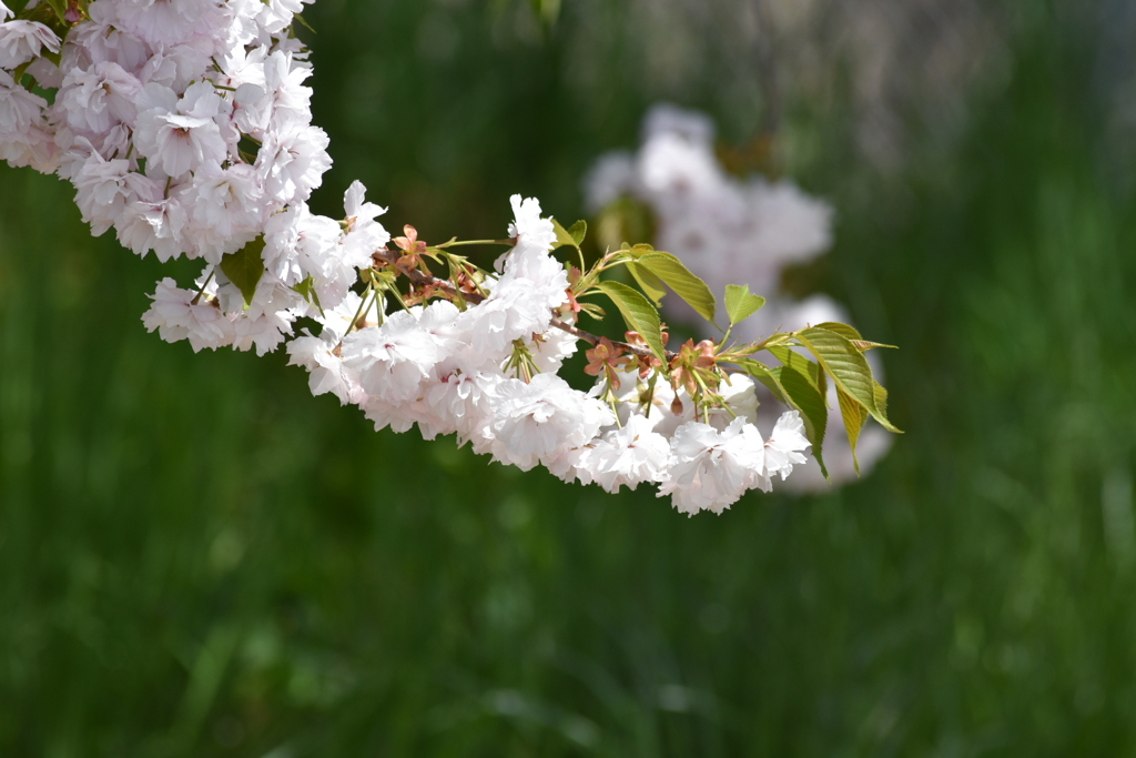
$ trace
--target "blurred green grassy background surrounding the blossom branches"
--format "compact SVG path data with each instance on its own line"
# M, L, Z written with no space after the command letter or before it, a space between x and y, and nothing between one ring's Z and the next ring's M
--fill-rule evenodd
M375 434L2 168L0 755L1136 755L1136 14L743 5L320 0L314 205L498 236L658 99L776 106L812 286L902 347L877 469L687 519Z

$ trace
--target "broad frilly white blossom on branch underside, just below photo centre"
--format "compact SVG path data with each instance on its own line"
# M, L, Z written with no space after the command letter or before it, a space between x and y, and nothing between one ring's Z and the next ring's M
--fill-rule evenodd
M587 443L613 420L607 406L556 374L538 374L528 383L506 380L493 409L493 457L528 470L542 458Z

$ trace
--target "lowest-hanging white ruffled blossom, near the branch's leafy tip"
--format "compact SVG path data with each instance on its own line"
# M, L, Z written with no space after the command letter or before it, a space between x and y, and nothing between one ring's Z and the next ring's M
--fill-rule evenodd
M719 432L708 424L687 422L671 440L670 478L659 497L671 495L679 513L720 514L746 490L768 481L760 432L736 418Z

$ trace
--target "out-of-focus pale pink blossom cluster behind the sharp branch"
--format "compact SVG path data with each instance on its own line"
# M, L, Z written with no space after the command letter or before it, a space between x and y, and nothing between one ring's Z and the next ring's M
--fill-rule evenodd
M847 322L843 307L825 294L797 301L780 293L782 272L825 252L833 242L833 208L803 192L790 180L732 176L715 152L715 124L705 115L662 103L643 123L643 143L636 152L602 156L584 180L585 200L599 214L620 198L645 205L654 218L655 247L679 258L715 292L745 282L766 297L766 306L733 330L742 341L755 341L783 330L810 324ZM676 320L709 326L683 301L668 298L663 308ZM707 338L715 335L707 331ZM877 377L883 367L868 353ZM765 395L765 393L762 393ZM762 400L771 398L762 397ZM829 406L836 407L835 386ZM771 402L758 411L759 423L772 423ZM832 482L855 477L847 435L829 424L825 438ZM871 468L891 448L882 427L863 430L860 470ZM820 467L810 460L788 483L799 490L828 486Z

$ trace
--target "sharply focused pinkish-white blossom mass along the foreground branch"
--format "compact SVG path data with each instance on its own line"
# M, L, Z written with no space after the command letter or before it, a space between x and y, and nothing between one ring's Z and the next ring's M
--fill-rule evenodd
M409 226L392 240L358 182L343 219L312 214L307 200L331 158L291 31L300 8L69 0L9 20L0 5L0 155L68 180L95 234L114 230L140 256L203 263L193 288L158 283L147 328L194 351L287 342L312 393L359 406L376 428L456 434L503 464L611 492L653 483L686 514L721 513L805 461L797 410L765 439L754 383L722 368L724 345L667 351L642 295L600 281L635 256L668 278L682 267L666 253L627 248L587 272L566 266L552 252L567 233L519 195L511 249L492 272L456 255L461 242L427 245ZM599 313L580 302L595 293L638 326L627 342L578 327L580 313ZM315 327L298 334L300 318ZM558 374L582 340L591 391Z

